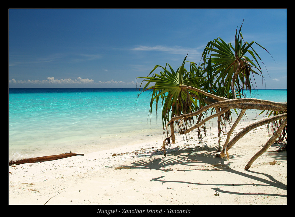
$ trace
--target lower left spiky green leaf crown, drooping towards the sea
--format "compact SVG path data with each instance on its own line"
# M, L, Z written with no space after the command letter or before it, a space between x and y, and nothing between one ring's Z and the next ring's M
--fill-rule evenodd
M197 73L202 71L191 64L194 70L188 72L184 68L185 63L186 57L176 72L168 63L165 67L157 65L148 76L157 68L163 71L154 73L151 77L139 77L144 79L140 85L142 91L153 90L150 101L150 114L152 113L153 106L155 106L155 109L158 111L161 105L163 127L165 127L172 116L190 113L199 108L198 101L192 96L198 95L198 93L193 90L184 91L179 88L179 85L196 85L203 79L202 77L196 77ZM170 69L170 71L167 68ZM144 82L146 82L146 84L143 86Z

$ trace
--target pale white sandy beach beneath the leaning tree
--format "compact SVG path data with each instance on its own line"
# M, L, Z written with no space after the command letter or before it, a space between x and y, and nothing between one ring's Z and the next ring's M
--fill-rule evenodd
M264 153L244 170L267 141L265 126L236 143L229 161L215 157L217 132L201 143L185 141L178 137L166 158L160 152L162 138L153 138L84 156L9 166L9 205L287 204L286 152ZM273 145L269 151L277 149Z

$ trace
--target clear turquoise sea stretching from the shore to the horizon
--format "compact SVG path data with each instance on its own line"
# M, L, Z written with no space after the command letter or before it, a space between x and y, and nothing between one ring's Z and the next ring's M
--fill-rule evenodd
M85 154L162 137L160 113L149 115L150 92L137 98L137 91L9 88L9 160L70 151ZM286 89L258 89L252 94L287 101Z

